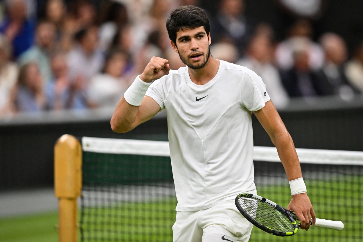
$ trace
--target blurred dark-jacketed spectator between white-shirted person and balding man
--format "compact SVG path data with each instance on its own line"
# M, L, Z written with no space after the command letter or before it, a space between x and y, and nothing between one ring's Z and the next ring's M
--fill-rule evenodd
M293 66L281 74L282 84L289 96L314 97L325 94L319 76L309 66L309 42L295 43L292 53Z

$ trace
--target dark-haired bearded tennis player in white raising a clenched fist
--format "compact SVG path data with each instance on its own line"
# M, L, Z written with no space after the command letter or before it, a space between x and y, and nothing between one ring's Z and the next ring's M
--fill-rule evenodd
M152 57L119 101L111 127L128 132L166 109L178 199L174 241L248 241L252 224L238 212L234 198L256 193L252 112L285 168L292 194L287 209L308 230L315 213L297 153L261 78L244 66L213 58L203 9L180 7L166 27L186 66L170 70L168 60Z

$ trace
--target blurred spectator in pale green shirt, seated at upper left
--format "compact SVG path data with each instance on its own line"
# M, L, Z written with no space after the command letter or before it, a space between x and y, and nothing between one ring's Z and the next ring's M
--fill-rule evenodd
M32 48L25 51L18 58L20 66L36 62L40 73L43 77L44 84L52 78L52 70L50 69L50 55L54 51L56 45L56 27L48 21L40 21L36 28L36 44Z

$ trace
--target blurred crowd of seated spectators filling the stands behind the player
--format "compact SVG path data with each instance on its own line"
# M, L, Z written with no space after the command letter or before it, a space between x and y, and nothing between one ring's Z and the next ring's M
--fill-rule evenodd
M17 112L115 107L152 56L184 64L165 22L198 0L6 0L0 23L0 118ZM308 19L296 18L282 41L267 23L250 24L243 0L220 0L211 21L211 53L252 69L277 108L290 98L363 92L363 42L349 56L344 39L313 41ZM208 13L208 11L207 11ZM41 17L39 17L41 16Z

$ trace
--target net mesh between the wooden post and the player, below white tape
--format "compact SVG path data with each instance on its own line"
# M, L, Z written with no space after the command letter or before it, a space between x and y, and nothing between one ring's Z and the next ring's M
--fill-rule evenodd
M81 241L172 241L169 157L83 152Z

